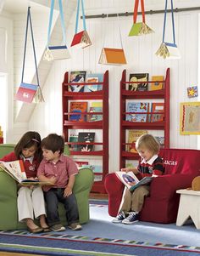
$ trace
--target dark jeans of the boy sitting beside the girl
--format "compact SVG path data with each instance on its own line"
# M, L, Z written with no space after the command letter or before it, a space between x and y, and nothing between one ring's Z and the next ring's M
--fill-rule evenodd
M49 226L60 224L58 202L64 204L68 225L79 223L79 212L74 194L64 197L64 189L53 188L44 192L44 196L47 202L47 223Z

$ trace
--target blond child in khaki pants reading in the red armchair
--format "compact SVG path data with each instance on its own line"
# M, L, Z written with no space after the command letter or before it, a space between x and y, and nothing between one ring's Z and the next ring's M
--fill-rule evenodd
M141 178L145 176L158 176L164 174L164 163L158 156L160 145L151 134L143 134L136 140L136 151L141 159L137 168L122 168L126 173L133 172ZM125 188L119 214L113 223L133 224L139 219L145 197L149 195L150 185L140 185L134 191Z

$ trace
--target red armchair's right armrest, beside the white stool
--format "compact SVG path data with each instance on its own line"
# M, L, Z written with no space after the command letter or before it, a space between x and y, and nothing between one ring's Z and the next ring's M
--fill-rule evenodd
M151 183L150 196L156 200L169 200L175 191L191 187L194 174L167 174L158 176Z

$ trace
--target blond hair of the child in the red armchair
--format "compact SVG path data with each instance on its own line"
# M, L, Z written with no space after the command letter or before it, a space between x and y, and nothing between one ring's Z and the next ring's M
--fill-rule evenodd
M160 145L158 140L153 137L152 134L143 134L140 138L136 140L136 150L140 150L142 148L147 148L149 151L152 151L153 154L158 154L160 149Z

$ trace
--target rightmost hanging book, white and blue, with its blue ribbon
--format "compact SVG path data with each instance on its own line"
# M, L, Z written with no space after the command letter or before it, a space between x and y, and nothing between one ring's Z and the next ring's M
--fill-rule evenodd
M167 5L168 0L165 0L165 8L164 8L164 29L163 29L163 42L158 48L156 55L159 57L163 57L164 59L180 59L181 54L177 45L175 43L175 19L174 19L174 10L173 10L173 0L171 0L171 22L172 22L172 37L173 42L169 43L165 41L165 29L166 29L166 19L167 19Z

